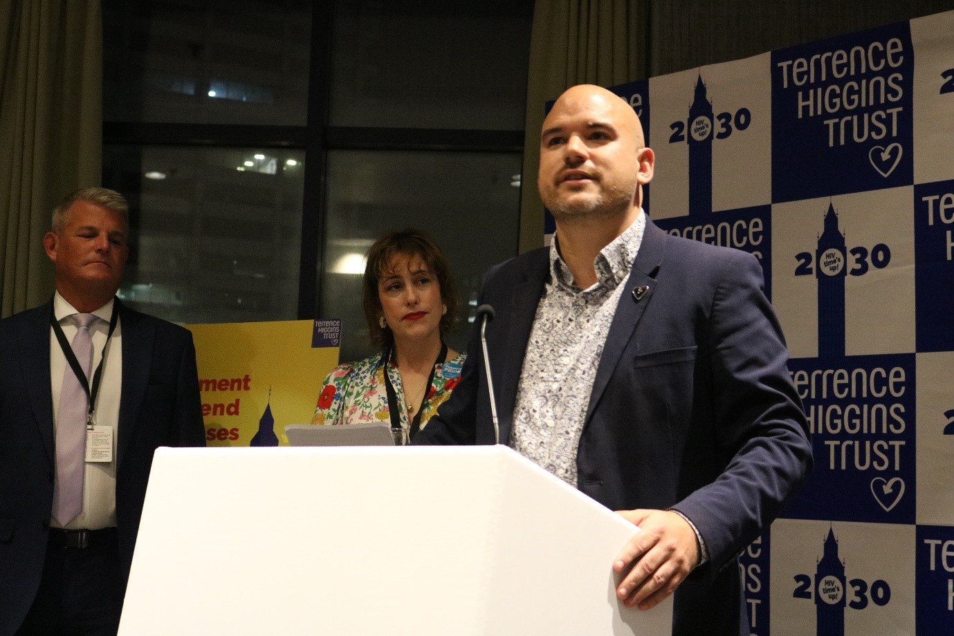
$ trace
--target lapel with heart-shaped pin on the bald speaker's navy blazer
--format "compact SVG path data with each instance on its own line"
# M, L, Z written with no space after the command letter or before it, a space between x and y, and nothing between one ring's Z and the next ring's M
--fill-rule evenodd
M645 214L645 213L643 213ZM633 261L630 277L626 281L626 288L619 297L619 304L610 325L606 344L603 346L603 355L596 368L596 378L593 380L593 390L590 394L590 405L587 407L587 417L584 428L590 423L593 411L599 403L607 384L612 378L616 365L619 363L623 350L636 331L639 319L653 300L656 277L662 264L665 253L666 233L660 230L649 216L646 217L646 229L643 240L639 245L639 253Z

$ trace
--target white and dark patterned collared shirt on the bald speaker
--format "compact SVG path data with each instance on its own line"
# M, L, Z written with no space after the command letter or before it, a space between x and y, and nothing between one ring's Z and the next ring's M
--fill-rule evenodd
M596 256L596 283L573 284L554 236L550 281L544 287L527 343L510 445L576 487L576 449L590 405L596 367L610 333L616 304L643 240L640 213Z

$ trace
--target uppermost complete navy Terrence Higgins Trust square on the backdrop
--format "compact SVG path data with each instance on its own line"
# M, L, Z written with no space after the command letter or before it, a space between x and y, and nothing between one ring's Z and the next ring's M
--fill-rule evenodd
M913 49L900 23L772 52L774 201L911 182Z

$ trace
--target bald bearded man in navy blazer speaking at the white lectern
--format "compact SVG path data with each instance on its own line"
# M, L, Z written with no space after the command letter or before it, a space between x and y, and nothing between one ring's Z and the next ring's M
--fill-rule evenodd
M673 633L747 635L736 555L811 467L778 320L754 256L669 236L633 109L576 86L547 116L539 190L553 245L487 273L500 441L639 526L617 597L674 597ZM416 443L493 443L478 330Z

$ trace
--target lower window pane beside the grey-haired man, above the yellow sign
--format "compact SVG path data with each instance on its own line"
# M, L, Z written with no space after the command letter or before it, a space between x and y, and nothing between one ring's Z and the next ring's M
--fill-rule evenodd
M119 297L175 322L298 316L300 151L105 146L103 182L130 202Z

